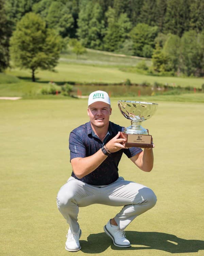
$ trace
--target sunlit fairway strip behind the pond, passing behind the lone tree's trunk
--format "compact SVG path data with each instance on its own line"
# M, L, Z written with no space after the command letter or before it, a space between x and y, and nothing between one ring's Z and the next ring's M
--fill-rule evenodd
M6 71L7 74L18 77L31 77L29 70L11 69ZM143 74L134 74L131 72L123 72L117 67L102 67L85 64L68 63L61 61L56 72L41 71L36 74L38 82L79 82L79 83L121 83L130 79L132 83L141 84L148 82L153 85L155 82L169 85L180 85L181 87L196 87L201 88L204 83L203 78L195 77L164 77L164 76L149 76Z

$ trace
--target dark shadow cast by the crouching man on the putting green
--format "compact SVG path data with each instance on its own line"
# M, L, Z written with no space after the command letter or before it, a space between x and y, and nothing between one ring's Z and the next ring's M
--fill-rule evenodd
M113 245L111 238L103 232L90 234L87 241L80 240L81 251L102 253L110 245L113 250L118 251L155 249L170 253L194 253L204 250L204 241L202 240L186 240L167 233L126 231L125 235L130 240L132 247L120 248Z

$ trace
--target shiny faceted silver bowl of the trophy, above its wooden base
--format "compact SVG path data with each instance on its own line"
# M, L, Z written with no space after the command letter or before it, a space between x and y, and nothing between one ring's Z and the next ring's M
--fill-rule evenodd
M119 100L118 107L124 117L131 120L131 126L124 129L126 134L148 134L147 129L142 127L142 122L154 115L157 103Z

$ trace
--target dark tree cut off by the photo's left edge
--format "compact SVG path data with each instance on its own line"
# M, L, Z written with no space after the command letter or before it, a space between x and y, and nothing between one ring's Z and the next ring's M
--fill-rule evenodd
M0 0L0 72L9 66L9 38L11 27L7 22L4 9L4 0Z

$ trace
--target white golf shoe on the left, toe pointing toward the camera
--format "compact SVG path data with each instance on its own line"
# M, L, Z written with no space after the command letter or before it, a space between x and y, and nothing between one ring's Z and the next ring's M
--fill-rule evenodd
M79 229L77 234L72 234L71 229L69 228L67 233L67 241L65 243L65 249L69 252L77 252L81 249L79 239L81 237L82 231Z

